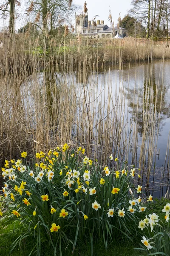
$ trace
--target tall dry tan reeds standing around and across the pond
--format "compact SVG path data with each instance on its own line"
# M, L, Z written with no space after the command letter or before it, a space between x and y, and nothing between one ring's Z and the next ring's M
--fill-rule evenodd
M133 38L108 41L83 37L77 40L73 35L51 38L29 32L16 35L13 40L5 35L1 37L1 165L5 159L20 157L23 150L33 155L39 150L48 151L59 144L71 143L85 147L88 156L100 157L102 163L111 153L127 160L131 151L130 160L137 164L139 154L142 178L149 183L159 133L156 113L161 111L161 97L159 105L157 102L160 87L156 86L155 96L150 68L142 96L139 145L139 116L134 109L139 108L140 91L136 82L137 94L127 93L122 63L136 61L137 68L138 60L170 58L165 44ZM116 81L112 76L114 69L119 70ZM135 95L138 95L137 102ZM169 157L168 152L167 149Z

